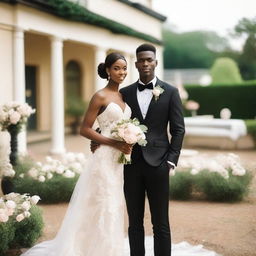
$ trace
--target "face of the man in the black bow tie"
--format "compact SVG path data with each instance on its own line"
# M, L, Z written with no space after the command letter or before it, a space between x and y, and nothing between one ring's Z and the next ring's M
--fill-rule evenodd
M157 66L155 53L152 51L138 52L135 66L143 82L152 80L155 77L155 67Z

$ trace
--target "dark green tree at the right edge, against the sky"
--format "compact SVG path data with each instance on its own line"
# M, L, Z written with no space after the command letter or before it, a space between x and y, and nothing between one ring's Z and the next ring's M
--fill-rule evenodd
M247 36L239 58L242 76L246 80L256 79L256 16L252 19L241 19L234 30L237 36Z

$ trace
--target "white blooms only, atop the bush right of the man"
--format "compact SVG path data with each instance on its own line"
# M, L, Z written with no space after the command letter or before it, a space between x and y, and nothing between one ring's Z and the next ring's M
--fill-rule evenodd
M225 179L228 179L231 174L234 176L244 176L245 168L241 164L238 155L229 153L226 155L209 156L193 156L187 159L180 159L179 168L191 168L191 174L196 175L200 171L209 170L217 172Z

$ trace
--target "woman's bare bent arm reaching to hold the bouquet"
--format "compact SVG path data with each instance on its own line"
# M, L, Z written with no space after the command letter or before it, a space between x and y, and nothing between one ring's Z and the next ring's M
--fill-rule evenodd
M129 154L131 152L131 146L125 142L117 141L111 138L107 138L98 132L96 132L92 126L97 118L99 110L104 106L104 99L100 97L100 95L95 94L89 104L88 110L85 113L81 128L80 134L87 139L96 141L102 145L108 145L114 147L125 154Z

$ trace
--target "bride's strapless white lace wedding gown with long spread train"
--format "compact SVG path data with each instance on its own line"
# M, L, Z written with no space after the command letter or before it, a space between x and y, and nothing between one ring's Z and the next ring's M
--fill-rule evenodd
M131 109L110 103L97 120L101 134L110 137L116 121L128 119ZM87 162L74 189L67 213L53 240L42 242L22 256L129 256L124 237L123 165L120 151L101 145ZM147 256L153 256L152 237L146 237ZM173 245L173 256L216 256L188 243Z

